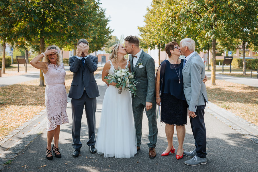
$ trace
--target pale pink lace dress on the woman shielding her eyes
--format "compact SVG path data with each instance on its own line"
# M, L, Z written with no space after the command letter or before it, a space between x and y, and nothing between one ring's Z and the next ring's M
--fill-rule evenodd
M67 93L64 86L64 64L48 64L48 72L43 73L43 76L46 83L47 131L51 131L57 125L69 123L66 113Z

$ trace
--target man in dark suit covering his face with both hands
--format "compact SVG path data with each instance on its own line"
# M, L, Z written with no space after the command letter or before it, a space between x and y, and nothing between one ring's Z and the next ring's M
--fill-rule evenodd
M95 149L95 112L99 90L93 72L97 70L98 58L88 54L89 43L85 39L80 39L77 43L76 56L69 58L70 71L73 72L73 81L68 97L72 98L73 117L73 157L78 157L82 143L81 118L83 108L85 108L89 140L90 153L96 153Z

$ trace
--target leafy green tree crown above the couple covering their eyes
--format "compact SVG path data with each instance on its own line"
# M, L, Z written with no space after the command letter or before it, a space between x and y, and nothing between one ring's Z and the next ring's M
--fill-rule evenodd
M45 44L76 49L79 39L89 41L90 51L104 46L110 38L105 10L95 0L10 0L16 19L14 37L24 47L45 51ZM44 85L42 71L40 85Z

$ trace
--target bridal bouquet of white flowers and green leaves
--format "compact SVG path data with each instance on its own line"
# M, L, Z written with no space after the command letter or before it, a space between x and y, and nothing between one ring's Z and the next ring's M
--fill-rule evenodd
M124 89L126 91L131 91L135 97L138 80L135 80L134 73L130 73L127 68L121 69L120 67L118 67L118 70L114 70L114 72L114 74L108 74L104 79L107 79L109 84L112 82L117 83L116 88L118 88L119 94L121 94L122 89Z

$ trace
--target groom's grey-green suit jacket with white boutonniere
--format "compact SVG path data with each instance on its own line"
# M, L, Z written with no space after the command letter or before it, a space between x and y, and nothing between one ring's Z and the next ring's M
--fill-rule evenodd
M155 102L155 62L154 59L142 50L140 57L133 69L133 58L129 55L131 72L134 72L134 77L139 81L136 86L136 95L147 102ZM139 63L143 67L139 67Z

